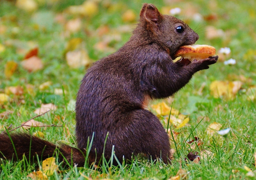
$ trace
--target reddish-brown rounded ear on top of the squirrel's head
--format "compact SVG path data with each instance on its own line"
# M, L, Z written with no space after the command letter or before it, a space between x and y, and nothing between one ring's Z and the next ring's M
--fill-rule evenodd
M156 25L161 17L161 13L157 10L153 4L143 4L140 11L140 18L144 18L146 21L153 22Z

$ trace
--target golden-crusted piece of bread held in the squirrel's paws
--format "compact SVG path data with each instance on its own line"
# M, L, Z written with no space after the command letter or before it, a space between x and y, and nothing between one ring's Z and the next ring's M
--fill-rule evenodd
M202 60L210 56L215 55L215 47L209 45L187 45L181 46L174 54L174 57L183 57L189 59L190 61Z

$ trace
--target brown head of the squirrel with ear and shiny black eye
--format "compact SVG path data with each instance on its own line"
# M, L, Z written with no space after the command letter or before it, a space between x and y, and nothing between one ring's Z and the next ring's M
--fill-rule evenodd
M140 24L148 38L168 48L170 55L184 45L192 45L199 36L186 23L173 16L162 15L153 4L143 4Z

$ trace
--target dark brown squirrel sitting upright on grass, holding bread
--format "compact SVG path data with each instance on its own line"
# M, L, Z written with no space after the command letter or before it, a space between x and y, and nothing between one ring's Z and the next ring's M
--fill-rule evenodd
M170 142L159 119L145 107L149 99L173 95L194 73L209 68L218 56L199 61L172 61L175 51L198 40L183 21L162 15L153 4L143 4L140 20L130 40L116 53L95 62L87 70L76 99L76 140L79 149L63 145L59 158L84 166L88 137L92 140L89 163L109 160L112 147L117 159L147 154L169 162ZM107 136L108 134L108 136ZM105 143L105 139L107 140ZM25 154L45 159L56 145L27 134L0 135L0 157L16 160Z

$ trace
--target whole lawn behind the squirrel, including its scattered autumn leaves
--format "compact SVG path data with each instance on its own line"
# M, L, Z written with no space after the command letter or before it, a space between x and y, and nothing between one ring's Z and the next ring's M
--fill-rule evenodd
M115 52L129 39L144 2L2 0L1 132L21 126L48 108L50 112L33 119L34 127L22 126L13 132L76 146L74 103L80 81L94 61ZM172 13L199 34L196 44L214 46L220 57L173 97L155 100L148 107L172 130L172 164L153 163L143 157L110 167L86 164L63 169L60 164L47 178L255 179L256 2L147 3L155 4L164 14L179 8ZM222 51L225 47L230 52ZM31 58L32 66L28 62ZM235 63L226 64L230 59ZM42 108L44 104L49 107ZM221 130L227 132L222 134ZM199 155L200 161L186 160L190 152ZM38 163L29 164L25 159L0 160L0 179L27 179L36 170ZM184 175L176 176L178 171Z

